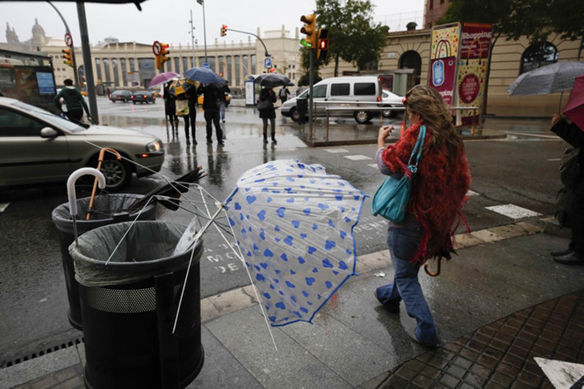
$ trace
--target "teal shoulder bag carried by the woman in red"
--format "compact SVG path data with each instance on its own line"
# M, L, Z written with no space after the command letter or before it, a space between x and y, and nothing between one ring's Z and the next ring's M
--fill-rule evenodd
M402 222L405 217L406 206L408 206L409 194L412 191L412 180L418 171L418 162L422 156L422 148L426 139L426 126L420 126L418 141L413 146L412 154L409 156L408 170L410 177L403 174L395 178L395 174L385 178L383 184L378 188L371 201L371 213L374 216L381 215L392 222ZM415 158L415 164L412 164Z

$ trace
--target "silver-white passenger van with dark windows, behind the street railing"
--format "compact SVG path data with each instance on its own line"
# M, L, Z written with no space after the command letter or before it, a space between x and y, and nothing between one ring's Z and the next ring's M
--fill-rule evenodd
M319 81L314 84L314 101L342 101L343 103L354 103L371 101L382 101L381 85L377 76L346 76L332 77ZM308 98L308 89L300 96L286 100L280 107L280 112L286 117L290 117L296 122L300 122L300 114L296 107L298 97ZM334 107L326 104L317 104L314 114L316 116L326 116L326 107ZM378 111L334 111L332 116L352 116L357 123L363 124L369 122Z

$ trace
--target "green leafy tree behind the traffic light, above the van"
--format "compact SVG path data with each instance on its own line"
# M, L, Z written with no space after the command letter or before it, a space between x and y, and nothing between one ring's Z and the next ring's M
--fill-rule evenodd
M317 20L329 30L329 57L352 62L359 71L380 58L386 43L387 26L373 23L373 4L369 0L317 0Z

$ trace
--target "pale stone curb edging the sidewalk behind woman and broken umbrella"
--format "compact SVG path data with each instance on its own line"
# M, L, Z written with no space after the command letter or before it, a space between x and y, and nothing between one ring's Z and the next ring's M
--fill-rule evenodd
M478 246L479 244L495 243L499 240L543 233L546 229L545 225L550 222L550 217L545 216L544 218L530 220L530 222L518 222L471 233L457 234L454 236L454 249L458 250L460 248ZM388 250L377 251L376 253L359 255L357 257L356 272L357 275L368 274L389 266L391 266L391 257ZM251 284L227 290L218 295L205 297L201 299L201 323L254 306L257 303L255 291Z

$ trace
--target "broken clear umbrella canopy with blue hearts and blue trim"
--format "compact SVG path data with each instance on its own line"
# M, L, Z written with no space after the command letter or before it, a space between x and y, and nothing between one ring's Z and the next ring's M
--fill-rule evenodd
M277 160L246 171L225 201L274 327L311 322L355 274L353 227L366 195L318 164Z

